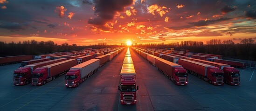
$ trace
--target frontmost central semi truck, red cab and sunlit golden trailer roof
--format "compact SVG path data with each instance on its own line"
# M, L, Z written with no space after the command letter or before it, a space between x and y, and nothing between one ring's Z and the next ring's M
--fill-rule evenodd
M120 91L120 102L122 105L132 105L137 103L138 86L136 88L135 70L133 63L124 63L120 72L121 83L118 86Z

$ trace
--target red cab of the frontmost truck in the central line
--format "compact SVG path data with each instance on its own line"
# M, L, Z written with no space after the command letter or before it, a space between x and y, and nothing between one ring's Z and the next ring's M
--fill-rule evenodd
M120 91L120 102L122 105L133 105L137 103L135 75L122 75L121 85L118 86Z

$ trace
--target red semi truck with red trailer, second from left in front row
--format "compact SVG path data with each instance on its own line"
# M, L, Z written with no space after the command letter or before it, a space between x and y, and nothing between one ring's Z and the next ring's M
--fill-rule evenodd
M69 68L76 66L76 59L69 59L63 62L58 62L43 66L41 68L36 68L32 72L32 85L41 86L46 84L51 80L55 80L56 77L68 71Z

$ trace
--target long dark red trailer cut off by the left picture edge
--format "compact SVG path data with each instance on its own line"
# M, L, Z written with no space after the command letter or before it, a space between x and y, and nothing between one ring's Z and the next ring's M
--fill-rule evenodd
M0 57L0 65L18 63L18 62L32 60L32 59L33 59L32 55Z

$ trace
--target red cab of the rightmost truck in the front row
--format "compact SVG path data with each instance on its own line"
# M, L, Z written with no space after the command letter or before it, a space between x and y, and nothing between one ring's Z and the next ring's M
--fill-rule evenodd
M240 85L240 72L234 67L224 67L224 82L229 85Z

